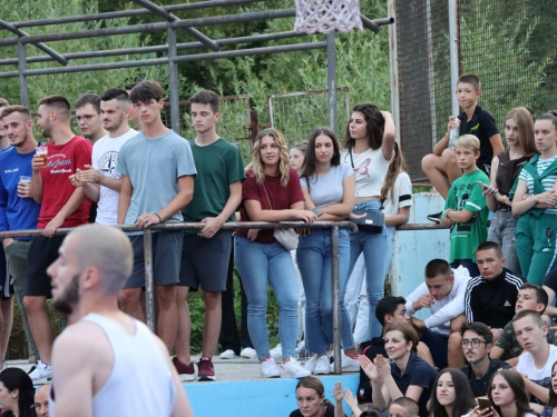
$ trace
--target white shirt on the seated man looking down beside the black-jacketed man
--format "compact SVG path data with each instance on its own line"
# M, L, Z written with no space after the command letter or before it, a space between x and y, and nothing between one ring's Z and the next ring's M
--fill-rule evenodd
M466 286L470 279L468 269L462 266L453 269L452 274L455 275L455 282L452 284L451 291L443 299L433 301L430 308L431 316L423 320L428 329L443 336L450 335L450 320L465 312ZM405 297L405 307L409 316L413 316L416 312L412 308L412 302L418 301L424 294L429 294L429 290L426 282L422 282L411 295Z

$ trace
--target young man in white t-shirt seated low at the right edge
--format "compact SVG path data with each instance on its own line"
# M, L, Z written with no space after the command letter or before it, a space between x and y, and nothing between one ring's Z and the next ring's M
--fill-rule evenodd
M557 361L557 347L546 339L547 325L537 311L521 310L512 318L518 342L525 353L518 357L517 370L528 393L543 403L549 398L551 369Z

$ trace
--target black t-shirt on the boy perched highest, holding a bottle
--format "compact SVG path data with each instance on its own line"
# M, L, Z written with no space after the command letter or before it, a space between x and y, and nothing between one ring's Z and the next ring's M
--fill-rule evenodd
M489 138L499 133L494 117L489 111L482 110L476 106L472 118L468 121L466 112L458 117L460 119L459 135L473 135L480 140L480 157L476 161L479 169L487 173L491 169L491 160L494 159L494 148Z

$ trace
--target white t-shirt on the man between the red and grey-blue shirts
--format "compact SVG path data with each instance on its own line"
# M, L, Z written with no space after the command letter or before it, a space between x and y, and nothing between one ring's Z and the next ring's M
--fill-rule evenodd
M121 146L136 135L137 130L129 129L126 133L117 138L110 138L108 135L100 138L92 146L92 167L98 169L102 176L119 180L120 175L116 172L118 152ZM118 222L119 196L119 192L108 187L100 186L97 218L95 222L101 225L116 225Z

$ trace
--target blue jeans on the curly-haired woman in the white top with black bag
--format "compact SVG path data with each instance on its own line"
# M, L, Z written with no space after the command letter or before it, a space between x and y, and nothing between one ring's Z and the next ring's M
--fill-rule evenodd
M379 200L368 200L354 206L354 210L379 211ZM365 259L365 284L368 286L368 302L370 304L370 337L381 336L381 325L375 317L378 301L384 297L385 279L387 228L380 234L356 231L350 234L350 268L349 276L360 254Z

